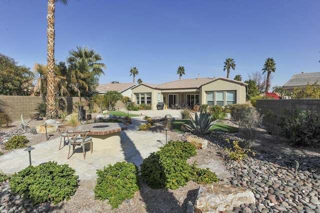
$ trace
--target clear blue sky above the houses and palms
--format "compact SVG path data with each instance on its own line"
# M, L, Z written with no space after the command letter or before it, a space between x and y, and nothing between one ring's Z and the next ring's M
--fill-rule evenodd
M33 67L46 64L46 0L0 0L0 52ZM148 83L261 71L273 57L271 85L294 73L320 71L320 0L68 0L56 3L55 58L88 46L107 69L100 83Z

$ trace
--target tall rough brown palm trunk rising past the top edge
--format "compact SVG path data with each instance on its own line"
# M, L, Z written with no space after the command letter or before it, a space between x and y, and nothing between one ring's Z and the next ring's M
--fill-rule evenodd
M55 88L54 88L54 10L55 0L48 0L47 11L47 101L46 101L46 117L55 118L57 110L55 105Z

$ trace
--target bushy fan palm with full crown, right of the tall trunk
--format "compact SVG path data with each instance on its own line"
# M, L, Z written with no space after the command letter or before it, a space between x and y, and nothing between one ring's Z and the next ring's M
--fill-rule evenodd
M102 60L99 53L88 47L81 48L76 46L76 50L69 50L69 56L66 59L69 64L70 82L69 86L78 93L80 97L80 86L88 91L87 78L101 76L104 74L102 68L106 68L104 63L97 62Z

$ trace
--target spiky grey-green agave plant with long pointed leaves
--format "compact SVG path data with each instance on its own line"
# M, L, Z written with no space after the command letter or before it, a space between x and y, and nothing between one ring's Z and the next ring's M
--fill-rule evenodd
M192 118L190 125L184 124L187 129L196 134L204 135L209 132L209 129L216 124L219 119L210 122L212 115L207 112L200 111L200 115L195 113L195 119Z

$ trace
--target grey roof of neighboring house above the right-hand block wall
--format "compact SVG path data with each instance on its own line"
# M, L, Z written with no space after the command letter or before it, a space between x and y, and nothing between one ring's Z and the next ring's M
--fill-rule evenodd
M313 84L317 82L316 85L320 85L320 72L308 72L308 73L298 73L293 74L293 76L283 84L282 87L290 88L294 86L306 86L307 83Z

